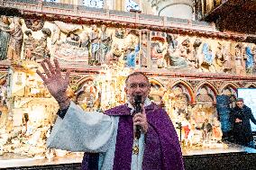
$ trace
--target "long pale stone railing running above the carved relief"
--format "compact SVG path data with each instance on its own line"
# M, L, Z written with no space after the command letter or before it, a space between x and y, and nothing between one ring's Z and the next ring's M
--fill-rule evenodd
M105 20L109 22L126 22L136 24L137 26L147 26L150 28L158 27L160 29L181 29L183 31L200 31L207 35L218 34L218 36L227 37L226 33L217 31L215 24L207 22L196 22L186 19L171 18L165 16L150 15L144 13L127 13L108 9L99 9L83 5L61 4L43 2L40 0L0 0L0 6L6 8L18 9L21 13L44 13L56 14L63 17L91 20ZM229 34L228 36L231 36ZM233 37L242 38L242 34L232 34Z

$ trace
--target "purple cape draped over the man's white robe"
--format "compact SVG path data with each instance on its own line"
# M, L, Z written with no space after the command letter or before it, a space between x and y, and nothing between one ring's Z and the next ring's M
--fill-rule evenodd
M143 170L183 170L178 136L168 114L155 103L145 107L149 130L145 135ZM133 154L133 116L127 104L107 110L120 116L114 151L114 170L131 170ZM83 170L96 170L98 154L85 153Z

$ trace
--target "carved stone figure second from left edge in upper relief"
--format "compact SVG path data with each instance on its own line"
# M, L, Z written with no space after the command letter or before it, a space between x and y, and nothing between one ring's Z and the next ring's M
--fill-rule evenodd
M14 17L14 27L9 31L11 33L11 38L9 41L8 48L8 58L10 60L18 60L21 58L21 52L23 47L23 30L22 30L22 22L18 17Z

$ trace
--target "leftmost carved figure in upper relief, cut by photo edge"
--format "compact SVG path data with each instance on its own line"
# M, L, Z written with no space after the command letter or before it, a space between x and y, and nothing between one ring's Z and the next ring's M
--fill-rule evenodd
M5 30L10 30L9 25L9 18L5 15L2 15L0 22L0 60L5 60L7 58L10 32Z

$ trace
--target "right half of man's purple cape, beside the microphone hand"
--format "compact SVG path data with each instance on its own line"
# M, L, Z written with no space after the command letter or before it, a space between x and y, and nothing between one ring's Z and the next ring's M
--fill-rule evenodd
M150 129L145 138L143 169L183 170L183 159L176 130L167 112L156 108L147 112ZM160 145L159 145L160 143ZM160 149L160 150L159 150ZM154 152L160 151L161 155ZM152 157L152 154L155 156ZM160 161L161 160L161 161Z

